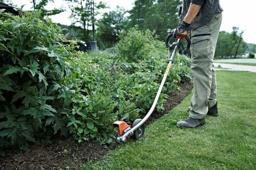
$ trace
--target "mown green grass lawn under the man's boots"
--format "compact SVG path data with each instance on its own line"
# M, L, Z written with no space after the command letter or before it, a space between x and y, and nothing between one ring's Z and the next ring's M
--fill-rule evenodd
M84 170L252 170L256 168L256 73L217 71L218 117L179 129L192 94L146 127L137 141L119 144Z

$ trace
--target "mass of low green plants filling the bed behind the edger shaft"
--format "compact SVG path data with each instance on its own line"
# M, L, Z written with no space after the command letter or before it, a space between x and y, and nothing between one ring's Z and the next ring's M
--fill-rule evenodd
M111 123L116 120L133 122L150 109L168 61L164 43L154 39L150 39L150 43L155 52L147 53L139 62L128 62L120 53L115 55L108 51L79 53L72 59L75 96L68 127L79 142L91 138L101 143L112 142L116 133ZM189 69L190 62L186 59L183 58L182 68L172 67L156 106L158 111L163 109L170 90L178 88L179 71Z

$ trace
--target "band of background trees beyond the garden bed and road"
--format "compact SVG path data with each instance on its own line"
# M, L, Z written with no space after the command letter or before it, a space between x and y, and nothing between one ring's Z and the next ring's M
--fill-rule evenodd
M0 0L0 2L16 7L13 0ZM54 0L31 0L32 10L41 9L41 16L44 19L68 10L62 8L46 10L46 6L52 2ZM107 3L94 0L65 0L65 2L72 11L69 17L72 24L71 26L59 24L62 28L68 29L63 30L62 33L67 39L71 35L74 40L96 41L99 49L102 50L115 47L121 30L127 31L136 25L138 30L155 32L157 39L164 41L168 34L167 30L172 30L178 25L178 9L182 4L182 0L135 0L133 8L129 11L117 6L115 10L105 12L109 8ZM244 30L237 27L233 27L232 32L220 32L215 58L238 58L256 53L256 44L244 42L243 33Z

